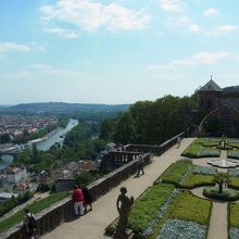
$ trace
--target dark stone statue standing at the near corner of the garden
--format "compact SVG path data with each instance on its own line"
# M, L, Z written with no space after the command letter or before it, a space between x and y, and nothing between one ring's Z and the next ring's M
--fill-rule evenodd
M115 239L127 239L126 227L128 223L128 216L131 211L134 203L133 197L127 197L127 189L125 187L121 188L121 194L117 197L116 205L120 214L118 225L116 228Z

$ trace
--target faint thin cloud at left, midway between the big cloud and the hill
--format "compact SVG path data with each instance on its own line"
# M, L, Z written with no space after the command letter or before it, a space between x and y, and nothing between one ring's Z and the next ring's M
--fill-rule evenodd
M74 71L68 71L64 68L55 68L52 65L47 65L47 64L34 64L30 66L33 70L39 71L43 74L49 74L49 75L68 75L68 76L74 76L77 75L77 72Z

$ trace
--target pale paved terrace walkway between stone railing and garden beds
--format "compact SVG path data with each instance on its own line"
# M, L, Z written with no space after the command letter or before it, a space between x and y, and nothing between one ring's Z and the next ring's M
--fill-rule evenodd
M153 181L175 161L181 159L180 153L194 140L194 138L186 138L181 140L180 148L172 147L161 156L154 156L152 164L144 167L144 175L138 178L129 177L121 185L112 189L106 194L99 198L93 203L93 210L85 216L72 222L66 222L56 227L51 232L42 236L43 239L102 239L109 238L104 236L104 228L118 216L116 211L116 199L120 188L125 186L128 196L138 198Z

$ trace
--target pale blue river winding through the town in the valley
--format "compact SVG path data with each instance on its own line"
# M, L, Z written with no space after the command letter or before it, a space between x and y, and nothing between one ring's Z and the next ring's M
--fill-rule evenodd
M46 140L37 143L37 149L43 151L49 150L55 142L59 142L62 146L66 133L71 131L76 125L78 125L78 121L70 118L70 122L65 128L56 128L55 130L49 133ZM9 166L13 161L13 156L11 155L2 155L1 159L0 169Z

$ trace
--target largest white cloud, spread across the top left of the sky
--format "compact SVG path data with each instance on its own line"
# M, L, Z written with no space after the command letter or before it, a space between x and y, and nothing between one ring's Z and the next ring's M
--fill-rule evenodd
M60 0L40 9L45 23L68 23L85 30L106 27L111 30L144 28L150 16L143 10L134 11L116 3L102 4L90 0Z

